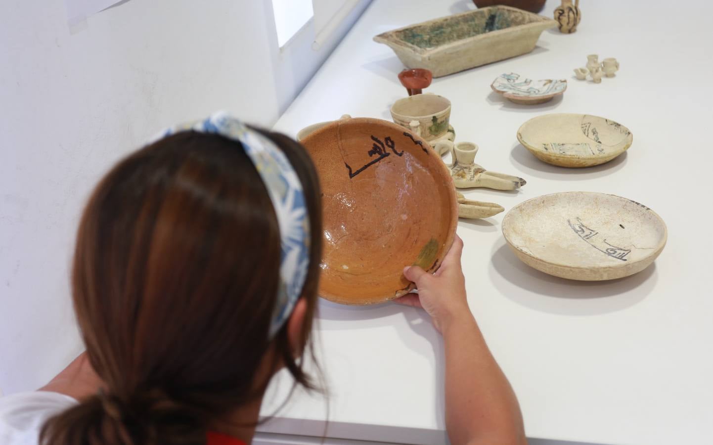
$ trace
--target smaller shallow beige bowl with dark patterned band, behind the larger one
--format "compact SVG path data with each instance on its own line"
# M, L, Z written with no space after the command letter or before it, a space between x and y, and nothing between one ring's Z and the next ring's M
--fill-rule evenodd
M530 153L562 167L607 163L624 153L633 139L620 123L589 114L545 114L518 130L518 140Z

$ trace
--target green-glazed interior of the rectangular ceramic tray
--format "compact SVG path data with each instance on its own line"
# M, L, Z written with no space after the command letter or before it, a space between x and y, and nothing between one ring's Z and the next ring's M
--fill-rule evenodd
M412 26L396 31L396 36L419 48L435 48L479 34L528 24L531 21L533 20L530 15L496 9L494 12L483 11L483 14L461 15L423 26Z

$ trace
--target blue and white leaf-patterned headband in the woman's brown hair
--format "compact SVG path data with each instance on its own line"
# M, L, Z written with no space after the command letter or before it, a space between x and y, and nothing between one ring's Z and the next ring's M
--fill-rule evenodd
M277 215L281 241L279 287L277 303L270 322L272 338L292 313L294 304L302 293L309 265L309 216L304 200L302 183L282 150L272 140L247 128L237 118L218 112L204 121L186 123L168 129L160 135L180 131L212 133L240 142L247 157L252 160L270 195Z

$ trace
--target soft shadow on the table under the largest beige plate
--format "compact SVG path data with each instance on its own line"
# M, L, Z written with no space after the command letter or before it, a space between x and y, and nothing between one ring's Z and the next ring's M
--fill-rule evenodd
M493 285L513 302L540 312L563 315L624 310L644 300L657 280L655 263L618 280L576 281L553 277L525 265L503 240L493 247L490 275Z

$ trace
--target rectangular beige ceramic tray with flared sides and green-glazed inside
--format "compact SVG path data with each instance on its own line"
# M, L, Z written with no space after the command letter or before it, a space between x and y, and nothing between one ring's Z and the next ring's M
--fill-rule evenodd
M529 53L557 21L509 6L490 6L374 36L409 68L434 77Z

